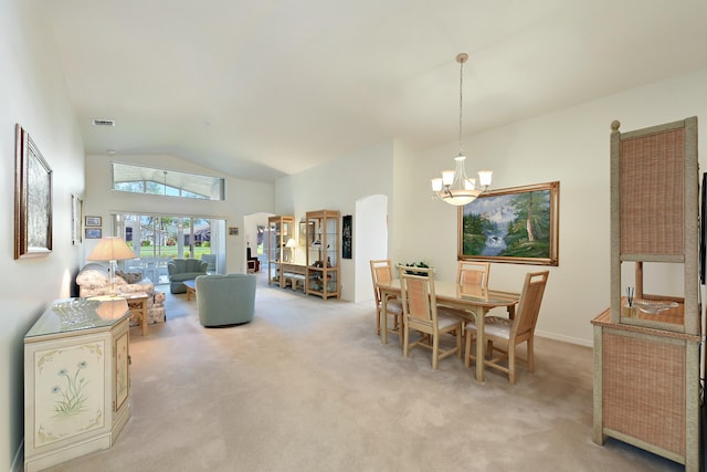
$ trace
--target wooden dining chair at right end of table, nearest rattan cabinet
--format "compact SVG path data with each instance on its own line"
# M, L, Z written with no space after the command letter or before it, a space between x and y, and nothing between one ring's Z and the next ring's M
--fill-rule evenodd
M535 359L532 353L532 338L535 326L540 313L540 304L545 286L548 281L549 271L530 272L526 274L526 280L520 293L518 310L514 319L499 316L487 316L484 318L484 339L486 339L486 359L484 365L493 369L500 370L508 375L510 384L516 382L516 361L523 360L528 365L528 371L535 371ZM464 365L469 366L471 360L476 360L472 353L472 343L476 340L476 323L466 325L466 346ZM525 359L517 358L516 346L526 343L527 356ZM503 347L499 347L499 344ZM494 356L494 353L498 355ZM505 365L507 363L507 365Z

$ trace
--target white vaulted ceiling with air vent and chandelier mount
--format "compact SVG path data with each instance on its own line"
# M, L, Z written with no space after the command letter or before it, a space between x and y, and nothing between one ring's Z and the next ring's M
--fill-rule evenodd
M460 52L465 134L707 66L705 0L33 1L87 154L260 181L456 139Z

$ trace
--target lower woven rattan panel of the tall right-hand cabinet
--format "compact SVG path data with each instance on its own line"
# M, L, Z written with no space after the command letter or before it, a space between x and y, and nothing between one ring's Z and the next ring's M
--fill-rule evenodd
M685 455L685 346L602 335L605 428Z

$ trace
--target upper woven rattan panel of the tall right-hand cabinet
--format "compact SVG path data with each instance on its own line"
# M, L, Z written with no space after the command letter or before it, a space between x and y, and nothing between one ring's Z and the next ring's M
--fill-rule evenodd
M621 253L684 253L684 129L621 141Z

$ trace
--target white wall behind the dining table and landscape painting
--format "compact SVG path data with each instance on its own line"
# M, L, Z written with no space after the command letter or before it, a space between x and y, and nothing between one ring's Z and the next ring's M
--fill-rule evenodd
M560 181L559 266L550 268L539 335L591 345L590 321L609 306L611 122L619 119L621 130L629 132L698 116L704 137L706 109L707 70L701 70L464 139L467 174L493 169L496 189ZM431 201L426 189L429 178L451 167L455 144L415 156L410 162L415 183L408 193L409 211L395 214L410 222L405 237L395 238L399 258L429 261L442 279L454 276L457 212ZM705 139L699 155L704 162ZM537 269L541 268L493 264L490 283L519 290L525 273Z

